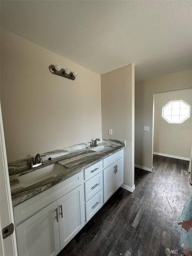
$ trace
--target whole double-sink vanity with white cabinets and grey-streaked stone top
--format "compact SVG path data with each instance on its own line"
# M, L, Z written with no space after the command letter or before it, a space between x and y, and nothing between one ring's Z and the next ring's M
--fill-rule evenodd
M54 256L123 183L125 142L101 139L8 164L19 256ZM27 166L28 165L28 166Z

